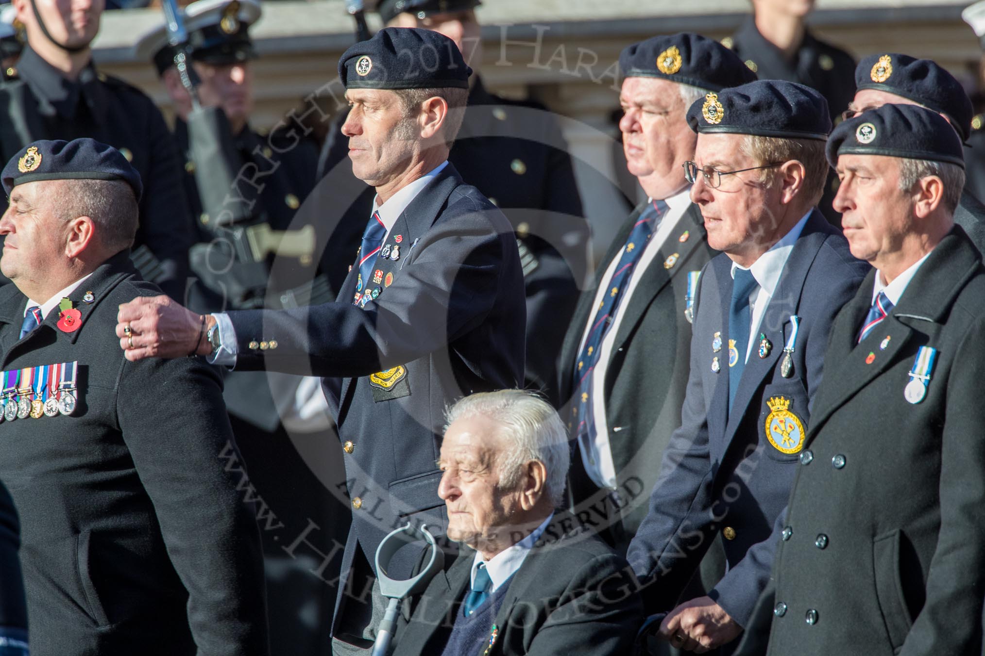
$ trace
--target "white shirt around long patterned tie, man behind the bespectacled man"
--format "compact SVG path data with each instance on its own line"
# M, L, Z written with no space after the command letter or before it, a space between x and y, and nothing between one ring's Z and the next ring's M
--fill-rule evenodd
M649 202L652 203L652 200ZM592 481L602 488L616 488L616 465L613 462L612 447L609 443L609 426L606 423L606 399L605 394L601 392L601 390L605 389L606 372L609 370L609 360L616 342L616 335L619 334L620 324L625 315L624 309L632 299L632 293L639 284L642 271L645 271L646 268L653 264L664 242L667 241L671 233L677 230L678 223L681 222L681 218L689 208L690 189L681 192L677 196L672 196L664 202L668 206L667 215L660 221L660 226L646 243L643 254L640 256L639 262L636 263L636 270L629 278L629 283L623 291L624 296L620 300L620 307L616 312L616 317L613 319L612 326L609 327L608 332L602 338L602 343L599 344L599 359L596 361L597 364L592 371L592 388L600 390L598 393L592 395L592 413L595 419L595 442L589 449L590 452L586 452L584 445L578 450L581 452L581 460L585 466L585 471L591 477ZM609 291L609 282L613 279L613 273L616 272L616 268L619 266L624 250L625 246L613 258L609 268L606 268L605 275L602 276L602 280L599 283L598 291L595 293L593 308L599 307L603 297ZM581 343L578 345L578 353L581 353L582 349L584 349L585 340L588 339L588 332L594 323L595 313L592 312L589 315L588 324L582 332Z

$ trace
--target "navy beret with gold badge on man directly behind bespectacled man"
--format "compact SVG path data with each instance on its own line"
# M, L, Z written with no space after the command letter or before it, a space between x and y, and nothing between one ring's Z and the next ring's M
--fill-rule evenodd
M736 53L713 38L684 31L627 46L619 68L624 78L665 78L712 91L755 81Z

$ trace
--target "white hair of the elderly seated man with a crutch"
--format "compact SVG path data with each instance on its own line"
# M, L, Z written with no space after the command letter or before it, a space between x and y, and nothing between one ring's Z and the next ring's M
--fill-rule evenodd
M492 419L499 426L499 435L509 443L499 456L502 484L516 487L523 465L539 460L547 469L544 492L555 507L560 506L571 455L564 425L551 404L523 389L479 392L445 411L444 430L447 432L459 419L477 415Z

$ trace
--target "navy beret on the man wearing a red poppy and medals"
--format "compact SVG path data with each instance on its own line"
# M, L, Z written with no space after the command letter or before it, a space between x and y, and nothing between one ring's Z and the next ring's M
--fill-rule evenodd
M123 180L140 201L144 186L119 150L94 139L39 141L20 149L3 168L3 190L37 180Z

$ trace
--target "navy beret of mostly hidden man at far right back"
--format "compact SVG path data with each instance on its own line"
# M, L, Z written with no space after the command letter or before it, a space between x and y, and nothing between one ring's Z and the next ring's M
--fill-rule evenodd
M890 52L870 55L855 67L855 87L901 95L936 112L948 114L961 139L971 135L975 110L961 83L940 64Z

